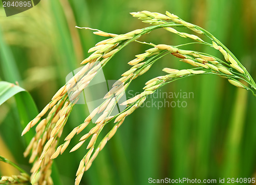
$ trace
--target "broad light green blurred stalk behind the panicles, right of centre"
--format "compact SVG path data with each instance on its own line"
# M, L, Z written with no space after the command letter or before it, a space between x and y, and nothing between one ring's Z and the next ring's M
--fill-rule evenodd
M206 1L206 30L215 35L219 40L225 43L228 34L228 26L226 19L228 19L229 1ZM218 51L213 51L210 48L204 49L205 53L210 53L216 56L221 56ZM220 87L221 78L215 76L205 75L200 79L200 109L198 111L198 125L197 125L197 151L196 151L196 177L207 178L211 172L211 158L212 143L216 133L216 114L218 107L220 107Z

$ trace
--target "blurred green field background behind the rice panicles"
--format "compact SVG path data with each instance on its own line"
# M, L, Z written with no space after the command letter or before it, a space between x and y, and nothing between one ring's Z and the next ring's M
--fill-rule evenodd
M122 34L148 26L129 14L142 10L160 13L167 10L205 28L233 52L256 80L255 0L55 0L41 1L36 7L11 17L5 16L2 7L0 78L11 83L17 81L32 94L41 110L65 84L66 75L89 56L88 49L104 39L91 31L76 29L75 25ZM140 40L169 45L190 41L164 30L154 31ZM130 68L127 62L147 48L139 43L125 47L104 67L106 79L118 80ZM222 57L202 45L184 48ZM164 74L161 71L164 67L191 68L167 56L137 78L129 88L133 90L130 93L141 92L147 80ZM167 99L186 101L185 108L153 106L136 110L84 173L81 184L148 184L150 177L256 176L256 97L213 75L184 78L165 86L161 92L193 92L194 98ZM62 138L87 115L84 105L76 105ZM113 123L108 129L111 126ZM28 159L24 160L22 155L26 144L20 137L21 131L15 100L10 99L0 107L0 155L29 171ZM72 140L69 150L78 139ZM67 151L55 160L62 184L74 183L85 147L73 153ZM11 167L0 164L0 175L13 173L16 172Z

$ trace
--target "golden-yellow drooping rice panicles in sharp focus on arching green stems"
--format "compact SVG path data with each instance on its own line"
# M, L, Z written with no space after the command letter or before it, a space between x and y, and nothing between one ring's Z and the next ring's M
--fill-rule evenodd
M30 141L24 156L30 156L29 162L33 164L31 168L30 182L32 184L53 184L51 169L54 158L65 152L75 135L81 133L97 117L95 126L85 135L81 136L79 142L70 150L74 152L83 144L90 140L87 153L84 154L77 169L75 184L79 184L85 171L89 170L98 153L104 148L105 144L115 135L117 129L124 122L125 118L138 109L146 100L148 95L153 94L159 88L180 80L188 76L212 74L224 77L230 84L250 91L256 96L256 84L251 75L241 62L212 34L179 18L178 16L166 12L166 14L141 11L131 13L144 23L149 23L150 27L134 30L125 34L112 34L91 28L80 28L94 30L96 35L109 37L95 44L88 52L93 52L81 64L86 64L77 72L63 87L61 87L46 107L24 128L22 136L32 127L35 127L36 134ZM189 38L191 42L180 45L170 45L168 43L147 43L140 41L142 35L150 37L151 32L164 29L167 32L176 34L180 37ZM186 30L182 32L179 30ZM80 30L83 31L83 30ZM195 32L191 34L190 32ZM113 85L112 89L105 94L104 102L96 107L84 122L78 123L75 128L66 136L64 141L60 140L63 129L69 119L73 107L79 100L83 90L88 87L92 79L97 76L99 70L119 52L132 42L138 42L148 46L143 54L135 55L135 59L128 64L131 69L125 71L122 77ZM204 47L211 47L222 54L222 58L217 58L209 53L195 50L182 49L183 46L202 44ZM172 69L166 66L163 71L165 75L150 76L147 73L161 58L172 55L180 62L187 63L186 69ZM193 66L191 68L191 66ZM159 71L160 73L160 71ZM121 103L126 105L126 109L121 113L112 116L111 113L131 83L141 75L148 75L152 79L145 83L142 92L133 98ZM113 128L106 134L101 141L97 139L102 133L105 125L114 122ZM3 160L7 162L7 160ZM23 171L21 171L23 172ZM28 180L28 175L21 173L18 177L2 177L0 183L16 182L18 179Z

